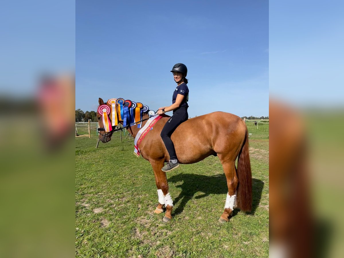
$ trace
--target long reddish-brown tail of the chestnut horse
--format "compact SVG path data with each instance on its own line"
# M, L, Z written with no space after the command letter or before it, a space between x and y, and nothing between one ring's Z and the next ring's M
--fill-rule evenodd
M248 148L248 131L246 127L246 137L238 155L238 187L237 205L241 211L249 212L252 209L252 172L250 154Z

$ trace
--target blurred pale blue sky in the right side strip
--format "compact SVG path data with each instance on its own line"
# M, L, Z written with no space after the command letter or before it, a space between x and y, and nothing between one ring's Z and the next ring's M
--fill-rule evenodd
M344 1L270 1L269 90L297 106L343 106Z

